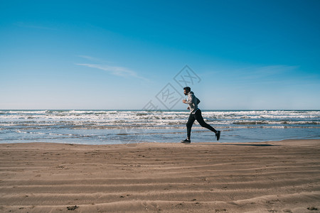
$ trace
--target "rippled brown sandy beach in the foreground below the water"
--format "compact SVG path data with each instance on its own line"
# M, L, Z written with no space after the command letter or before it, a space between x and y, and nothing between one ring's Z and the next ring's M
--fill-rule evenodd
M0 212L320 212L320 140L0 153Z

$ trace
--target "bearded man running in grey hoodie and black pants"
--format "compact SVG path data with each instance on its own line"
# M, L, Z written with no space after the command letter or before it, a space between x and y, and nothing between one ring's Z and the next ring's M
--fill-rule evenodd
M183 104L189 104L189 107L187 109L190 110L190 116L186 124L187 138L186 140L181 141L181 143L191 143L191 140L190 140L191 127L195 120L197 120L201 126L206 127L206 129L209 129L210 131L213 131L215 133L215 136L217 137L217 141L219 141L220 131L216 131L212 126L210 126L205 121L203 121L201 110L198 108L198 104L200 103L200 100L194 95L190 87L184 87L183 93L185 95L188 95L188 99L183 99L182 102Z

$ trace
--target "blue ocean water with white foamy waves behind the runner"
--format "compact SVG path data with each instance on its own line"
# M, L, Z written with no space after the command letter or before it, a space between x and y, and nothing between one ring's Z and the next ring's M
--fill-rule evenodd
M320 138L318 110L203 110L202 114L222 131L221 143ZM0 110L0 143L179 143L186 138L188 115L188 111ZM191 141L216 140L195 121Z

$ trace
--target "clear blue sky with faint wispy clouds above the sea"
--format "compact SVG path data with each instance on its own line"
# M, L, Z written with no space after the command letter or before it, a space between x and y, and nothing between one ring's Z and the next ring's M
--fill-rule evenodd
M320 109L320 1L0 0L0 109ZM172 109L185 109L178 102Z

